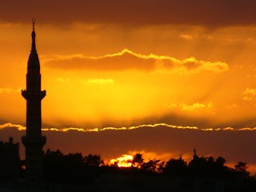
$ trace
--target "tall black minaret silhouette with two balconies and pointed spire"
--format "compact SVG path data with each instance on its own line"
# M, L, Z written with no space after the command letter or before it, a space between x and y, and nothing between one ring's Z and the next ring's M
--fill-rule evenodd
M41 100L46 96L46 90L41 90L41 74L38 53L35 47L35 32L32 30L32 47L27 62L26 90L22 96L26 99L26 135L22 143L26 149L26 178L32 181L42 179L42 146L46 137L42 136Z

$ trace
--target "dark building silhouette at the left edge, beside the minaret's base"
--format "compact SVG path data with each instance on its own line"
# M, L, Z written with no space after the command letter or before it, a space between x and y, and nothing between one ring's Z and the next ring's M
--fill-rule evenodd
M18 142L14 143L13 138L9 138L9 142L0 142L1 180L14 179L20 176L20 159L18 146Z

